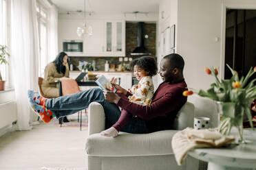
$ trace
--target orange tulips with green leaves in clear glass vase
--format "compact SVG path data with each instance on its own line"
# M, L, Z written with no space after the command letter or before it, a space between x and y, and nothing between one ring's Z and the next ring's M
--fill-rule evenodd
M228 65L227 65L228 66ZM183 95L188 96L198 93L201 97L208 97L216 101L217 110L221 113L221 122L218 127L222 134L229 134L231 127L237 127L239 132L239 142L244 143L243 121L247 117L250 126L253 128L252 114L250 104L256 99L256 79L248 82L250 77L256 72L256 66L251 67L247 75L239 78L237 71L228 66L233 76L229 80L220 80L217 77L216 68L205 68L209 75L215 77L215 82L211 84L208 90L186 90Z

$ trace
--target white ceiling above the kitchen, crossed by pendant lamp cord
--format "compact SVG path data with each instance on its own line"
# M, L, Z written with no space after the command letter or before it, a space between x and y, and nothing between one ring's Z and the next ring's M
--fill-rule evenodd
M84 0L50 0L58 12L84 10ZM95 14L123 14L124 12L158 13L161 0L86 0L86 12Z

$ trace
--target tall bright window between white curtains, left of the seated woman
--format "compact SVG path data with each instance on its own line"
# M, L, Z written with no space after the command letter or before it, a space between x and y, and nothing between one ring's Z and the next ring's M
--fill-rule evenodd
M47 9L42 3L37 1L36 6L37 21L39 27L39 77L43 77L45 66L47 65Z

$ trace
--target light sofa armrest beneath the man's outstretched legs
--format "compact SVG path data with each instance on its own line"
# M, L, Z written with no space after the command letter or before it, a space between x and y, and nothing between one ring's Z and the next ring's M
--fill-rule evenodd
M103 106L92 102L88 107L88 133L96 134L105 130L105 113Z

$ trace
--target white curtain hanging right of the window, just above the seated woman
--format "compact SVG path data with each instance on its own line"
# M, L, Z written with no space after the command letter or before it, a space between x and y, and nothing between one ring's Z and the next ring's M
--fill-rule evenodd
M48 61L52 62L58 54L58 10L55 5L50 8L50 17L47 23L48 30Z

